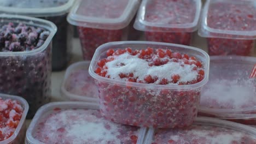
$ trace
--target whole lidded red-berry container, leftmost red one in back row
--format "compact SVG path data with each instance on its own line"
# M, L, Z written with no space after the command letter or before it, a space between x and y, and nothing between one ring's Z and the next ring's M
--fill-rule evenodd
M138 0L78 0L74 4L67 20L78 26L84 60L91 60L104 43L126 40L126 27L138 4Z

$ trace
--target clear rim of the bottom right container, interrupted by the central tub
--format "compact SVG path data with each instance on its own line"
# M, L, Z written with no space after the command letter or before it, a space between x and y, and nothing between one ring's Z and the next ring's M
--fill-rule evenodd
M254 135L256 137L256 128L250 127L245 124L225 121L222 119L217 118L211 118L211 117L197 117L193 124L202 124L202 125L208 125L213 127L221 127L221 128L228 128L233 129L236 131L243 131L244 133L249 133L251 135ZM146 135L145 143L151 143L153 140L154 135L154 128L150 128L148 130L148 134Z

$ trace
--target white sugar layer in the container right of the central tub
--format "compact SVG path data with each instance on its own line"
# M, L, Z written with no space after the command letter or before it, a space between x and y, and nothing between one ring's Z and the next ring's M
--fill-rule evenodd
M256 87L253 80L211 80L203 88L201 105L233 109L255 106L255 94ZM212 101L215 101L215 106Z

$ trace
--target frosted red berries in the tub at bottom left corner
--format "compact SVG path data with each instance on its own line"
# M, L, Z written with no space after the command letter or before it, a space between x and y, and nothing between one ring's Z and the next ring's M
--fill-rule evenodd
M19 101L0 98L0 141L7 140L13 135L23 111Z

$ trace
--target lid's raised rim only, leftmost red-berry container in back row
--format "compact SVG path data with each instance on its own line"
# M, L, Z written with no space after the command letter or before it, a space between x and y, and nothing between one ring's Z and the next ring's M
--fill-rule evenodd
M91 16L81 16L80 14L77 14L77 10L80 7L80 3L82 2L82 0L78 0L77 2L74 3L71 11L69 12L68 16L67 16L67 21L74 26L81 26L81 27L88 27L88 28L98 28L98 29L122 29L125 28L126 26L129 25L129 22L131 21L132 17L130 16L131 14L134 15L133 13L129 13L129 11L132 11L134 7L136 7L136 5L138 5L138 1L137 0L129 0L129 2L127 3L126 8L123 11L123 14L121 14L120 17L118 18L104 18L104 17L91 17ZM130 19L128 19L130 17ZM126 25L123 26L117 26L114 28L107 28L107 27L102 27L99 28L97 26L93 26L93 25L87 25L87 22L90 23L101 23L101 24L112 24L112 23L123 23L126 20L130 20L126 23ZM96 25L96 24L95 24Z

